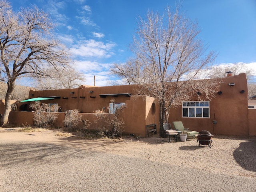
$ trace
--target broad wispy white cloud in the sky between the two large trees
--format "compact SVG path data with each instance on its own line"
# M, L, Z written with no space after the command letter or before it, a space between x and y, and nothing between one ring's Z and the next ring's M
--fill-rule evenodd
M109 58L114 54L112 52L114 46L116 46L115 43L105 44L104 42L90 39L74 45L71 51L76 56Z

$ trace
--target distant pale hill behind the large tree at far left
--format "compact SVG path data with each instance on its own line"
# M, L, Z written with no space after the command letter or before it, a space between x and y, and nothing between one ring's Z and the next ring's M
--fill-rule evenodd
M24 100L25 98L28 98L28 93L30 89L33 89L33 88L21 86L21 85L15 86L11 99L21 101L21 100ZM5 99L6 91L7 91L7 84L4 82L0 82L0 99Z

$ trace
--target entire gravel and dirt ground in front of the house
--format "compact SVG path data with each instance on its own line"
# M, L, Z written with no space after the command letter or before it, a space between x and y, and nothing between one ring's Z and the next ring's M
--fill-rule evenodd
M227 147L228 141L238 143L233 143L230 165L224 156L201 162L200 156L216 158L215 145L199 147L194 140L96 142L51 136L52 141L49 134L0 132L0 192L256 191L256 155L244 152L248 146L255 151L255 138L215 139L217 144L222 140L223 154L233 147ZM240 151L246 158L237 160ZM251 168L243 165L246 159Z

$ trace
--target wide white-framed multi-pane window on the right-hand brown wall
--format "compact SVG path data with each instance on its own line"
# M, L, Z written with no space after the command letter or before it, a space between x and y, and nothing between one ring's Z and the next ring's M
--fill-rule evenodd
M182 102L182 117L210 118L209 101Z

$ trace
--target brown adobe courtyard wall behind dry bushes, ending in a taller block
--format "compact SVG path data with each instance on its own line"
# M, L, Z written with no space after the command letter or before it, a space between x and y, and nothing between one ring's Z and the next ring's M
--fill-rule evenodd
M159 105L156 101L156 99L148 96L131 96L129 100L126 100L126 107L120 113L125 122L124 134L146 137L146 125L148 124L156 124L157 130L159 130ZM152 106L154 107L152 108ZM54 127L64 127L65 113L58 112L54 114L57 114ZM113 116L113 114L104 114L105 119L98 119L95 113L79 114L82 116L82 120L88 120L91 123L90 130L100 130L100 128L106 126L106 122L104 122L106 118ZM34 112L10 112L9 122L17 126L33 125L33 116ZM83 123L81 122L79 126L83 127Z

